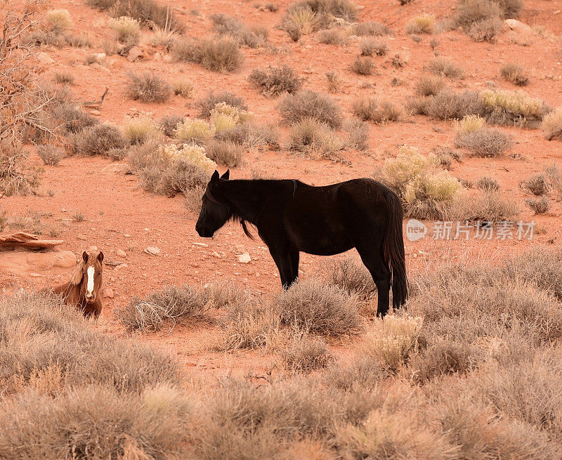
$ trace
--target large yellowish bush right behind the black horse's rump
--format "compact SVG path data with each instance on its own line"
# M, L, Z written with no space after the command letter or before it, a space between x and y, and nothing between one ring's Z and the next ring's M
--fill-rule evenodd
M398 194L412 218L447 216L462 192L459 180L439 168L435 155L424 157L412 147L402 147L396 158L386 159L375 178Z

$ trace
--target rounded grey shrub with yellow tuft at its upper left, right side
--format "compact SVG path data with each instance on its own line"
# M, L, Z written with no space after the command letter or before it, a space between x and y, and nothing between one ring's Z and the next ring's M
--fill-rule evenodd
M497 129L488 129L478 116L467 116L457 123L455 147L470 150L477 157L498 157L513 146L511 136Z

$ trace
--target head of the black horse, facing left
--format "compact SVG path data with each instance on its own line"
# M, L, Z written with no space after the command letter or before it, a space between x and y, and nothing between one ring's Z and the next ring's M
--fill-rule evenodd
M197 230L200 237L212 237L216 230L221 228L233 216L220 190L221 181L228 180L229 177L230 171L226 171L220 177L218 172L215 171L207 184L202 197L201 212L195 225L195 230Z

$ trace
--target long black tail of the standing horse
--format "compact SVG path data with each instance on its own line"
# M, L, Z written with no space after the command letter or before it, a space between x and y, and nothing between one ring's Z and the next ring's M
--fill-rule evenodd
M392 306L400 308L408 297L404 238L402 235L402 204L396 193L384 193L388 203L388 219L383 241L384 261L392 274Z

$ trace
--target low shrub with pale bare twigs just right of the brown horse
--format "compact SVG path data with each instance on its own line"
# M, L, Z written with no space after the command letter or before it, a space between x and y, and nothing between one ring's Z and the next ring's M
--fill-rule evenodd
M159 331L185 320L203 320L207 317L207 298L202 289L169 286L145 298L133 298L115 315L130 331Z

